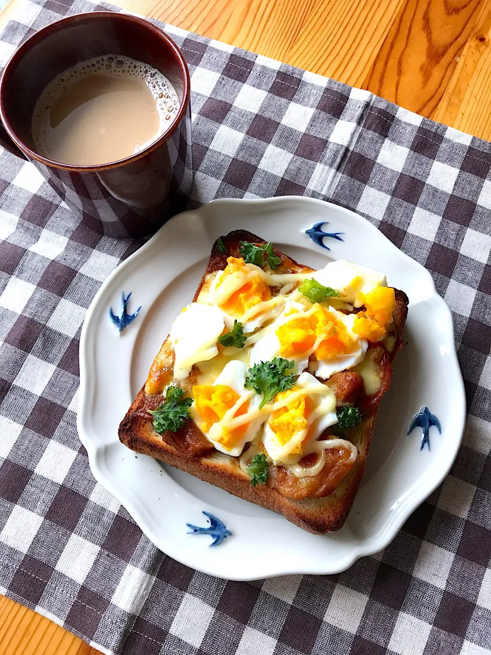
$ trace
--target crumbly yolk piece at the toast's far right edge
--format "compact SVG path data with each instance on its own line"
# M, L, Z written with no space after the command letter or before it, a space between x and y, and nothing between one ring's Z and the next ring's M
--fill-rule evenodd
M391 287L376 287L362 300L367 309L357 314L353 331L369 341L382 341L393 321L395 291Z

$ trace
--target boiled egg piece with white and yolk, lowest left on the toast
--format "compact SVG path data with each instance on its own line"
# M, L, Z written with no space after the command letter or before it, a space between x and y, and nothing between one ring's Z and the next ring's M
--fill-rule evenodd
M261 396L244 388L246 375L244 362L232 360L213 384L192 388L192 419L217 450L233 457L242 453L245 443L255 438L267 418L257 411ZM234 419L247 419L247 415L250 420L234 425Z

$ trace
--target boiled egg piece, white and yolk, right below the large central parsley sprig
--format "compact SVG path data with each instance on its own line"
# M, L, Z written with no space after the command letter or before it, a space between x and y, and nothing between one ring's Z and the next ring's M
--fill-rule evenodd
M337 421L334 392L302 373L295 386L274 398L262 438L266 453L274 464L297 464L310 443Z

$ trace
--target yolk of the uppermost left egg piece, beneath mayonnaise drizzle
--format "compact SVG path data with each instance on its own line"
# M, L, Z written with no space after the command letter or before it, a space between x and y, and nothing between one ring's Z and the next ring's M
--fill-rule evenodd
M238 284L240 284L241 278L245 279L245 282L242 286L236 289L228 299L219 305L219 307L234 316L234 318L242 318L246 312L249 312L255 305L264 303L271 299L271 291L266 284L264 284L263 279L260 275L252 276L250 275L249 269L246 268L244 259L242 257L228 257L227 267L223 271L221 280L219 282L219 287L224 284L227 284L227 279L230 276L234 276Z

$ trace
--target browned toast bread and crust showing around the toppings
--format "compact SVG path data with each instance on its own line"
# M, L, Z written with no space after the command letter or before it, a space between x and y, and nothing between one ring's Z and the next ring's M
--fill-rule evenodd
M228 255L240 257L239 242L248 241L255 244L264 244L264 240L247 231L238 230L229 233L223 238L223 244L227 249ZM307 266L299 265L293 259L287 257L284 253L274 249L276 256L280 257L281 263L274 272L310 272L314 271ZM210 274L225 269L227 265L227 254L219 252L217 242L213 245L208 267L204 272L200 285L194 295L194 301L198 298L200 290L206 284ZM391 377L391 362L395 358L397 351L405 346L401 339L403 327L407 317L408 299L403 291L395 290L396 307L393 312L394 337L395 343L390 352L384 353L384 379L382 386L377 394L373 397L366 397L363 403L363 421L355 428L350 430L350 440L358 449L358 457L355 460L353 468L340 481L336 489L328 496L321 498L304 498L302 500L293 500L282 495L275 487L266 485L251 485L249 476L242 470L238 458L225 455L215 449L200 454L200 448L196 447L196 437L201 436L200 430L192 421L187 421L185 427L181 429L181 434L165 433L157 434L153 428L152 417L148 413L149 409L155 409L160 405L165 396L162 394L149 395L145 392L145 386L141 388L126 413L119 427L119 438L122 443L130 449L150 455L175 466L183 471L191 473L193 476L207 481L221 489L231 493L249 502L254 502L262 507L282 514L286 519L299 525L302 529L311 533L322 534L340 529L357 493L365 464L369 454L370 443L372 440L378 405L383 394L388 389ZM166 352L168 348L164 342L160 357L160 366L165 364ZM163 355L162 355L163 353ZM157 358L157 359L158 359ZM157 361L157 360L156 360ZM155 366L155 364L154 364ZM172 362L168 362L167 369L164 365L164 371L172 375ZM192 379L192 373L191 373ZM170 379L167 383L170 382ZM162 383L164 384L164 383ZM162 385L161 385L162 386ZM199 443L199 440L198 440Z

